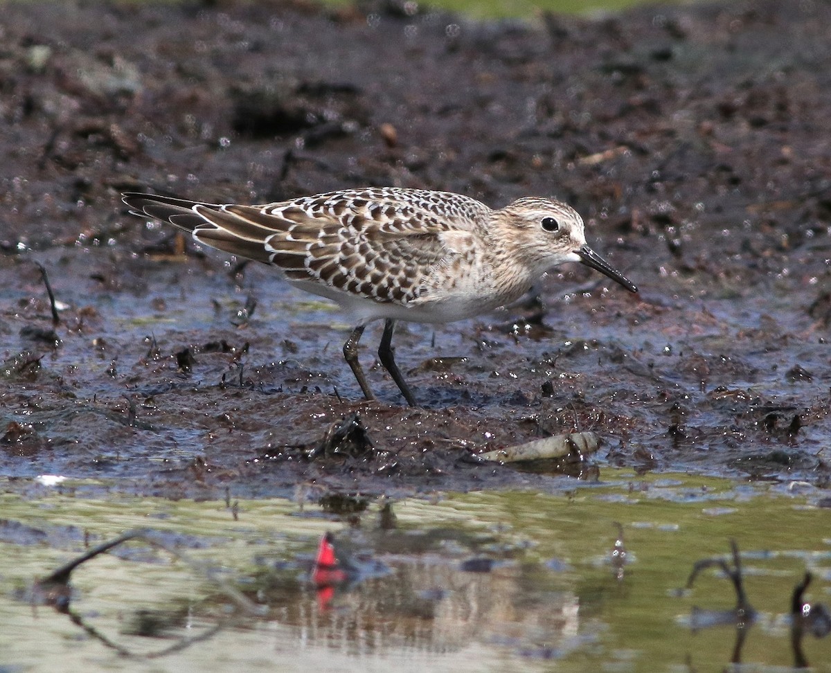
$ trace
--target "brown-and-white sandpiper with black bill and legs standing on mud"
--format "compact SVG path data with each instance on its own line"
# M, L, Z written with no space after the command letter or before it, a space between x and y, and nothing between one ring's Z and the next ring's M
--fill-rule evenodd
M295 287L340 304L357 325L343 356L367 400L375 395L358 361L358 341L368 322L386 321L378 357L407 403L416 406L391 346L396 320L478 316L519 299L564 262L581 262L637 292L588 247L580 215L549 199L518 199L493 210L461 194L397 187L343 189L264 205L122 197L132 214L271 264Z

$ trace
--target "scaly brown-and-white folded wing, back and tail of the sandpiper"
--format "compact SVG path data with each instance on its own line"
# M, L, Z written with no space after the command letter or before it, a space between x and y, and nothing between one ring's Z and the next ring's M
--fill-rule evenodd
M271 263L289 280L319 282L379 302L420 297L440 265L470 251L489 209L420 189L355 189L257 206L125 194L135 214L193 233L199 243Z

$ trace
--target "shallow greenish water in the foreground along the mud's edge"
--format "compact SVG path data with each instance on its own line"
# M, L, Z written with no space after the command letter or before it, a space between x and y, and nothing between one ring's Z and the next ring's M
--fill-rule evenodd
M748 670L792 664L790 593L831 602L831 536L821 493L807 484L737 484L608 471L559 494L435 494L337 515L298 500L224 502L85 499L91 484L15 484L2 497L0 666L86 671L716 671L730 662L732 626L691 629L693 611L730 609L719 572L683 590L693 563L742 553L759 611L741 651ZM575 482L577 484L577 482ZM96 488L106 484L96 484ZM306 500L300 506L299 500ZM363 506L362 504L359 504ZM357 506L356 508L360 508ZM347 521L348 519L348 521ZM622 525L626 563L612 565ZM234 607L214 578L142 543L73 573L72 608L130 651L129 660L27 591L62 562L130 528L150 528L264 606ZM361 569L332 595L309 569L322 533ZM471 571L479 572L471 572ZM709 613L707 613L709 614ZM701 619L701 614L696 619ZM179 637L204 641L160 660ZM136 636L135 625L150 635ZM831 671L831 639L805 636L804 656ZM743 669L745 670L745 669Z

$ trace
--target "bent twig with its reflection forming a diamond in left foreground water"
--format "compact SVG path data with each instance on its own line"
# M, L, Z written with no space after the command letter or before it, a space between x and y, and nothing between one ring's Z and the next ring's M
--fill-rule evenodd
M184 562L184 564L189 566L191 570L198 572L204 577L207 577L211 582L214 582L214 584L216 584L216 586L219 587L219 589L227 597L234 601L237 604L237 607L243 610L243 612L246 612L252 616L259 616L263 614L263 610L265 609L263 606L258 606L256 603L248 600L248 597L238 591L236 587L233 587L228 582L225 582L224 579L219 577L212 568L204 565L203 563L194 561L194 559L189 558L186 554L179 551L179 549L171 547L164 540L160 539L155 533L144 529L124 533L118 538L102 543L96 548L92 548L88 552L81 554L78 558L74 558L65 565L57 568L57 570L47 575L47 577L43 577L35 583L35 595L37 595L38 592L45 595L45 600L48 604L54 606L58 612L68 615L71 621L77 626L80 626L84 631L86 631L87 634L94 637L97 641L100 641L103 645L117 651L121 656L136 656L125 647L111 641L95 627L86 624L83 617L71 609L71 591L69 587L72 571L81 566L82 563L85 563L91 560L91 558L95 558L99 554L108 552L112 548L116 548L118 545L131 540L140 540L144 543L150 544L152 547L163 549L173 558ZM149 654L142 656L147 659L153 659L165 656L171 652L184 650L185 647L189 647L200 641L205 641L211 636L214 636L215 633L220 631L225 626L225 623L225 621L219 621L216 625L212 626L207 631L204 631L204 633L199 634L199 636L181 638L174 645L166 647L164 650L150 652Z

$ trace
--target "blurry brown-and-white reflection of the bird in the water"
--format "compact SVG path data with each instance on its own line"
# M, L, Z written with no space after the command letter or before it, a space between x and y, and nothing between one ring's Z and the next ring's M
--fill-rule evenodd
M450 533L450 531L447 531ZM386 562L332 562L325 536L312 582L263 568L256 595L307 646L349 656L408 651L461 651L471 642L499 643L531 656L561 656L579 632L579 601L561 573L537 563L421 554L423 541L397 538ZM438 546L458 542L434 538Z

